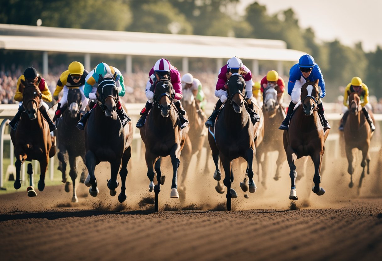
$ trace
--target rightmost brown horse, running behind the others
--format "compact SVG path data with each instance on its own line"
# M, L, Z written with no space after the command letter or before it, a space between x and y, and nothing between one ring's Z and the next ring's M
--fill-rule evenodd
M370 125L367 123L366 118L362 111L361 99L358 96L358 93L353 92L349 96L349 116L343 128L343 135L345 138L345 151L346 158L348 158L348 173L350 176L349 187L353 187L353 148L357 148L362 151L362 161L361 167L362 174L359 179L358 188L361 188L362 180L365 176L365 166L367 163L367 174L369 171L370 163L370 140L373 135L371 132ZM374 117L371 111L369 111L370 117L374 121ZM375 121L374 121L375 122Z

